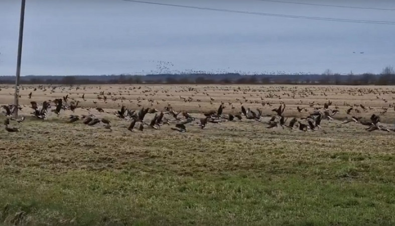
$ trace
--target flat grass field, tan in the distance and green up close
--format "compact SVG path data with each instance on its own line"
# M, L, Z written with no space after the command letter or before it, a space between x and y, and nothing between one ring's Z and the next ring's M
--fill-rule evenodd
M393 125L395 112L389 104L394 102L395 87L135 87L21 90L21 104L26 105L22 115L32 112L31 100L42 102L68 93L84 108L76 114L87 114L87 107L92 107L92 114L111 120L113 131L80 121L68 124L70 110L59 117L50 114L46 121L28 117L22 124L12 122L19 133L0 130L0 224L395 224L393 132L369 133L360 124L338 120L323 121L318 131L267 129L268 117L262 122L209 124L204 130L189 126L187 133L171 131L170 126L129 132L128 121L94 109L112 112L118 104L131 109L141 104L163 110L170 103L201 117L221 101L226 105L224 114L237 112L242 101L245 107L272 114L282 101L287 117L302 117L313 110L309 102L320 107L331 100L331 108L340 110L338 119L368 118L387 107L380 117ZM191 87L194 90L188 90ZM0 102L11 103L12 87L1 88ZM99 91L111 92L106 94L107 103L96 98ZM193 100L184 102L180 96ZM298 112L298 103L308 111ZM361 112L347 115L347 104Z

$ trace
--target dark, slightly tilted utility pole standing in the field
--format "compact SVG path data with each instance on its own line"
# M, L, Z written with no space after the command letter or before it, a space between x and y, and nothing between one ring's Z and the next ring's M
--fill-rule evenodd
M22 60L22 40L23 40L23 25L25 21L25 4L26 0L22 0L21 6L21 20L19 24L19 41L18 41L18 60L17 60L17 78L15 80L15 99L14 99L14 118L18 118L19 105L19 77L21 76L21 60Z

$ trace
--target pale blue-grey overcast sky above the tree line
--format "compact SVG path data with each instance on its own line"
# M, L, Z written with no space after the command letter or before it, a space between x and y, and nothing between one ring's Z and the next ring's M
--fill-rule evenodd
M141 1L228 12L122 0L26 0L22 75L323 73L326 69L356 74L395 66L393 0ZM20 8L20 0L0 0L0 75L16 72Z

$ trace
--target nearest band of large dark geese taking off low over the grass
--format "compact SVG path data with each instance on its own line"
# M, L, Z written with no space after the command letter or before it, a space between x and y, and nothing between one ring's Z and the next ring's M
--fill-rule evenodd
M31 94L29 95L31 96ZM31 112L31 115L39 120L46 120L49 112L52 112L53 114L59 116L61 114L61 111L66 111L70 110L73 112L73 115L69 116L69 119L67 123L76 123L80 120L82 120L84 125L87 126L95 126L95 125L103 125L105 129L108 129L109 131L112 131L112 126L111 122L108 119L105 118L98 118L93 114L89 115L82 115L82 116L77 116L74 115L74 110L78 108L79 101L70 101L68 103L68 97L64 96L63 98L57 98L52 101L55 106L51 106L50 101L44 101L41 106L37 104L36 101L31 101L31 108L33 109L33 112ZM313 105L311 103L311 105ZM300 130L300 131L316 131L321 129L321 121L322 120L334 120L333 117L339 112L338 109L331 109L330 106L332 105L332 102L328 100L328 102L325 102L323 104L323 107L320 108L315 108L315 110L311 113L309 113L306 117L302 118L292 118L289 120L289 118L284 117L284 111L286 109L286 105L284 103L280 104L279 107L273 108L271 111L273 114L265 115L265 117L270 117L270 120L267 122L264 122L267 126L268 129L271 128L288 128L290 130ZM8 132L19 132L21 131L17 127L10 127L10 120L15 121L17 123L22 123L25 120L25 117L22 117L20 119L14 119L13 112L16 110L16 107L19 109L22 109L21 106L15 106L12 104L9 105L3 105L2 108L5 110L5 116L6 120L4 125L6 126L5 129ZM360 104L360 107L364 109L365 107ZM51 109L52 108L52 109ZM171 130L178 131L178 132L187 132L187 126L188 125L198 125L201 129L206 128L206 126L209 123L212 124L219 124L223 122L241 122L243 120L252 120L252 121L257 121L261 122L264 116L262 115L262 111L260 109L256 109L256 111L250 109L250 108L245 108L243 105L241 106L240 111L233 115L233 114L224 114L225 106L224 103L222 102L219 107L216 110L210 110L208 112L205 112L203 115L203 118L196 119L192 117L188 111L175 111L173 107L168 104L165 106L163 111L160 111L155 109L155 108L150 108L150 107L142 107L140 110L131 110L126 108L124 105L121 106L119 110L116 112L106 112L108 114L114 114L117 118L121 120L126 120L129 121L130 124L127 127L128 131L135 131L135 128L138 129L139 131L144 131L145 128L152 128L155 130L160 129L164 125L174 125L171 127ZM104 112L104 110L100 107L95 108L98 112ZM297 106L297 110L299 112L307 112L305 108L301 108ZM346 114L350 115L351 111L353 110L353 107L350 107L346 110ZM147 114L155 114L154 117L149 120L149 122L145 121ZM289 122L287 123L287 121ZM364 120L362 117L355 117L352 116L350 119L346 119L345 121L342 122L342 124L347 124L347 123L358 123L364 126L367 126L365 129L368 132L372 132L375 130L381 130L381 131L386 131L390 132L393 131L395 132L395 127L394 128L387 128L384 125L380 124L380 118L378 115L372 114L369 120Z

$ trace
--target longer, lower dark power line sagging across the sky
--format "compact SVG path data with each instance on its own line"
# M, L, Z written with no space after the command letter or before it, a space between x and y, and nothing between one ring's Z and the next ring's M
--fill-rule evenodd
M345 22L345 23L395 25L395 22L392 22L392 21L371 21L371 20L353 20L353 19L327 18L327 17L306 17L306 16L287 15L287 14L268 14L268 13L257 13L257 12L248 12L248 11L239 11L239 10L225 10L225 9L215 9L215 8L206 8L206 7L194 7L194 6L165 4L165 3L143 2L143 1L137 1L137 0L121 0L121 1L142 3L142 4L148 4L148 5L169 6L169 7L195 9L195 10L208 10L208 11L259 15L259 16L268 16L268 17L283 17L283 18L295 18L295 19L318 20L318 21L333 21L333 22Z

